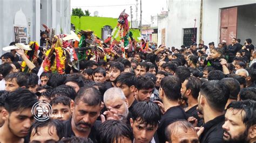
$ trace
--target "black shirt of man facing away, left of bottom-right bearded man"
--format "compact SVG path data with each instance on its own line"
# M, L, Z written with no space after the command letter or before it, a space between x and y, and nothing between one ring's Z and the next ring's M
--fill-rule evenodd
M225 115L218 116L213 120L208 121L203 125L204 132L199 138L200 142L224 142L223 140L223 124L225 122Z

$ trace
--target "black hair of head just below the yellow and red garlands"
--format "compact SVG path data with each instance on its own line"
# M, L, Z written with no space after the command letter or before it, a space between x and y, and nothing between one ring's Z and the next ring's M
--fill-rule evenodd
M59 85L64 84L65 80L66 80L66 75L52 74L52 76L49 78L49 81L46 84L52 88L56 88Z

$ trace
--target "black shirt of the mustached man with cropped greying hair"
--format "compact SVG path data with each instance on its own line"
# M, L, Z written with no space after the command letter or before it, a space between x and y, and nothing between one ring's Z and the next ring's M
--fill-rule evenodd
M72 136L76 136L75 133L73 132L72 130L72 127L71 127L71 119L70 118L69 120L66 120L64 121L64 137L65 138L70 138ZM93 142L97 142L96 138L97 138L97 129L96 127L98 125L100 125L100 121L96 121L95 122L95 125L92 126L91 128L91 132L89 134L89 137Z

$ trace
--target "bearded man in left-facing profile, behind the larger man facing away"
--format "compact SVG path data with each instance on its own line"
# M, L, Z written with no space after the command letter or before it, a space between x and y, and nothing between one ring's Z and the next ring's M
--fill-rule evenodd
M181 85L181 96L188 103L187 108L185 109L187 118L193 116L197 120L201 120L198 117L197 113L197 97L200 91L202 83L197 77L187 77L186 80Z

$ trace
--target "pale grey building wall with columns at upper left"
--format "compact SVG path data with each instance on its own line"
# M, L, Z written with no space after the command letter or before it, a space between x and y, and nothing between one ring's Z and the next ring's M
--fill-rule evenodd
M14 41L15 15L20 10L24 13L23 21L27 26L27 38L31 41L39 43L40 30L45 30L42 24L55 28L56 34L60 34L60 29L63 33L70 33L70 0L2 0L0 1L0 55L5 53L2 48Z

